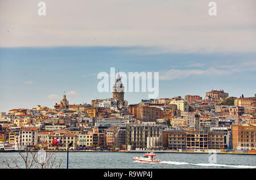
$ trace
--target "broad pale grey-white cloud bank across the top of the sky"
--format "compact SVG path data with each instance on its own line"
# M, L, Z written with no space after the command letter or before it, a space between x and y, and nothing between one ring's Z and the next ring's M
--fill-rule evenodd
M255 0L2 0L0 47L156 47L158 52L255 52ZM72 7L72 8L71 8ZM8 18L7 18L8 17ZM7 32L9 31L9 32Z

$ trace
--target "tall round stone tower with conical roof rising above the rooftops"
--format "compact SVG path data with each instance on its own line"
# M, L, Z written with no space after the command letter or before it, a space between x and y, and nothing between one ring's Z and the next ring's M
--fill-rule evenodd
M121 77L119 75L119 69L117 74L117 79L115 79L115 84L113 86L113 98L121 100L122 102L125 100L125 87L121 81Z

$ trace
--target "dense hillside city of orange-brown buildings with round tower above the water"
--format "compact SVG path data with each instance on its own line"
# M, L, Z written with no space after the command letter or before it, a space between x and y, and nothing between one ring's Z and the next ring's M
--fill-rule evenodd
M119 75L119 74L118 74ZM121 82L121 83L120 83ZM118 85L117 85L118 84ZM256 94L230 97L224 90L199 95L125 101L125 92L54 108L37 105L1 112L0 141L27 149L67 150L240 150L255 153ZM3 149L1 149L3 150Z

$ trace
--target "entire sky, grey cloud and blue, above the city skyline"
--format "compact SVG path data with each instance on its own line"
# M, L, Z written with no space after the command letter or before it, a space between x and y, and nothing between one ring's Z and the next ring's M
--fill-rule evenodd
M97 90L112 67L159 72L159 98L256 93L256 1L214 1L216 16L205 0L38 2L0 2L0 112L112 97Z

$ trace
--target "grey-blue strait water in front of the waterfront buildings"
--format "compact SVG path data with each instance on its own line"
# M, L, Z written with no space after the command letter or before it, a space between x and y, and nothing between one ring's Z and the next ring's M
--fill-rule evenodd
M122 152L69 152L69 168L100 169L171 169L171 168L256 168L255 155L216 154L216 163L210 163L211 154L155 153L161 163L134 162L134 156L144 153ZM61 168L67 167L67 153L55 153L56 160L63 160ZM0 168L7 168L3 160L17 159L22 166L19 153L0 153ZM57 161L59 162L59 161Z

